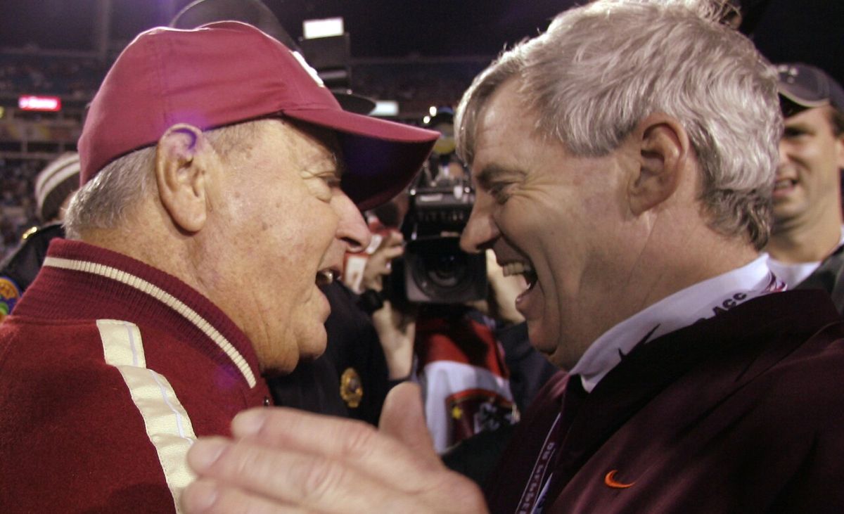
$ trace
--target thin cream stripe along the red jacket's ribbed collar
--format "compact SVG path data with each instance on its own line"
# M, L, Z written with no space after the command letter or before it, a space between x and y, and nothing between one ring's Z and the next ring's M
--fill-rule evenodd
M75 261L73 259L62 259L59 257L46 257L46 259L44 259L44 266L71 269L73 271L100 275L102 277L121 282L122 284L127 284L128 286L143 291L156 300L160 300L166 306L169 306L171 309L181 314L181 316L185 317L187 321L196 325L199 330L203 331L203 333L208 336L208 338L211 338L211 340L213 340L214 343L229 356L232 362L235 363L237 368L241 371L243 378L246 379L246 383L249 384L249 387L255 387L255 374L252 373L252 369L246 363L246 359L243 358L243 355L241 355L241 353L238 352L231 343L229 343L229 340L226 339L223 334L219 333L219 331L214 328L211 323L201 317L197 311L194 311L192 308L185 305L184 302L176 298L176 296L170 295L170 293L164 289L161 289L154 284L150 284L146 280L140 279L131 273L126 273L117 268L111 268L111 266L105 266L96 262Z

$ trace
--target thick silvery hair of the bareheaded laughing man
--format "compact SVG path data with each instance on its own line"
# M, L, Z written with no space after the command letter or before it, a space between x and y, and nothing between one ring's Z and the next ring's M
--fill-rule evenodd
M511 78L538 133L578 156L611 153L663 112L689 133L711 228L760 249L782 133L776 71L719 23L724 9L712 0L599 0L565 11L475 78L457 108L457 152L471 165L485 102Z

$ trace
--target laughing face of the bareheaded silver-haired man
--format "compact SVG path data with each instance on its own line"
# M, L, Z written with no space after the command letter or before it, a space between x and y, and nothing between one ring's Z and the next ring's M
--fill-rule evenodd
M555 365L571 367L609 328L593 321L601 318L596 309L609 308L598 306L621 252L619 156L576 157L540 138L517 85L500 86L479 118L477 198L462 245L491 247L507 275L524 275L527 289L516 306L531 343Z

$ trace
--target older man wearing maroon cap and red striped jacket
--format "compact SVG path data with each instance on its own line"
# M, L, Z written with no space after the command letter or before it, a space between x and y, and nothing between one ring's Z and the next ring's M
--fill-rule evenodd
M195 438L322 353L317 286L436 138L343 111L251 25L139 35L86 119L68 241L0 332L0 511L178 511Z

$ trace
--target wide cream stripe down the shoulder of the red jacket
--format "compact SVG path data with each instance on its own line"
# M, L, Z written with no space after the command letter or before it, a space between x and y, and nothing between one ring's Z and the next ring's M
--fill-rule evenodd
M98 320L106 363L120 371L149 441L158 453L176 512L181 512L181 491L196 475L187 466L187 450L196 441L191 419L164 376L147 369L138 326L116 320Z

